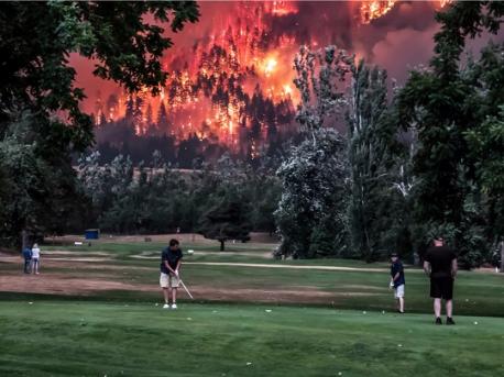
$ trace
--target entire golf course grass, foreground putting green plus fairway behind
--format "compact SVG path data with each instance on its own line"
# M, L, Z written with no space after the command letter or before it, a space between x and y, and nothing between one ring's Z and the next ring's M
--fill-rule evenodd
M163 246L101 241L90 247L44 246L43 253L72 252L46 254L53 259L52 267L44 264L44 254L42 257L42 274L63 276L62 288L68 277L123 281L133 287L147 285L153 290L68 297L1 292L0 287L0 376L502 374L504 274L461 271L456 282L457 325L435 326L428 280L419 269L406 270L408 313L398 315L393 312L394 299L387 289L386 263L273 260L264 258L271 245L230 244L224 253L185 257L185 262L195 263L183 267L189 287L256 292L313 289L329 295L317 302L300 298L288 304L258 304L248 298L216 302L197 297L190 303L179 300L177 311L166 311L154 306L161 302L157 257ZM218 252L219 247L217 243L183 246L196 252ZM154 258L134 257L140 254ZM84 256L102 260L72 263L72 258ZM58 264L58 258L65 263ZM266 266L199 264L205 262ZM21 259L19 265L0 260L0 274L19 274L20 265ZM122 268L110 269L110 265ZM269 265L377 270L267 268Z

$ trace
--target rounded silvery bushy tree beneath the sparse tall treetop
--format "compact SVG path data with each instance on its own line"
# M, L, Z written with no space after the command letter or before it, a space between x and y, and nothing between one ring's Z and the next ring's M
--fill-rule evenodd
M278 256L341 255L348 236L346 141L333 130L314 133L280 167L282 199L275 212Z

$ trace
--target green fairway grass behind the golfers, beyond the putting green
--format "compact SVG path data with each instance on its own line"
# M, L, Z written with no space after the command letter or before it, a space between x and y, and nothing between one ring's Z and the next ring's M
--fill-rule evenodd
M68 267L44 268L45 271L72 274L72 277L98 277L118 280L128 284L151 285L154 289L158 280L158 258L162 248L160 243L110 243L95 242L88 246L50 246L45 250L65 250L74 252L75 256L96 256L89 253L102 252L112 257L111 260L99 263L75 263ZM188 244L184 250L217 251L218 245ZM234 247L234 248L232 248ZM263 247L263 248L261 248ZM231 244L230 252L264 254L262 244ZM153 259L133 258L133 255L145 253L153 255ZM68 258L68 255L62 256ZM69 256L72 257L72 255ZM314 259L314 260L273 260L250 255L230 255L226 252L217 255L187 256L185 262L238 262L260 263L265 265L295 265L295 266L343 266L355 268L387 268L388 265L365 264L360 260L348 259ZM120 265L123 269L106 270L103 266ZM143 267L143 268L138 268ZM19 266L0 264L2 270L12 271ZM390 276L383 271L336 271L317 269L286 269L286 268L256 268L239 266L208 266L199 264L185 264L183 267L184 280L190 286L211 287L216 291L223 289L255 289L261 290L296 290L305 287L329 292L330 297L317 301L319 306L340 309L359 310L394 310L392 291L387 289ZM461 271L456 282L454 291L456 314L504 317L504 274L481 274ZM95 295L98 299L156 299L158 292L145 291L112 291ZM198 300L208 300L207 297L197 297ZM310 300L299 300L305 304ZM406 270L406 309L408 312L430 313L431 300L429 298L429 281L418 268Z

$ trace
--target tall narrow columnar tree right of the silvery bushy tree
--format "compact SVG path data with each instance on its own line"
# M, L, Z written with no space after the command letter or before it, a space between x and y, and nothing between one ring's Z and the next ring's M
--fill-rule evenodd
M349 203L352 248L372 262L380 252L387 252L402 243L406 224L397 222L399 213L393 190L394 153L401 147L397 126L391 120L387 103L386 73L369 68L361 60L352 68L352 100L347 115L349 135L349 164L352 195ZM395 207L395 208L394 208ZM407 240L405 240L407 243ZM402 251L403 253L406 251Z

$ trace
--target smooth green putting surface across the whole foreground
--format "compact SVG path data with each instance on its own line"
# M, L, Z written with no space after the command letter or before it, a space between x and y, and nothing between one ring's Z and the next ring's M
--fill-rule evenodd
M0 301L0 375L502 373L503 319L460 317L456 326L431 320L325 308L182 304L166 311L153 303L8 300Z

